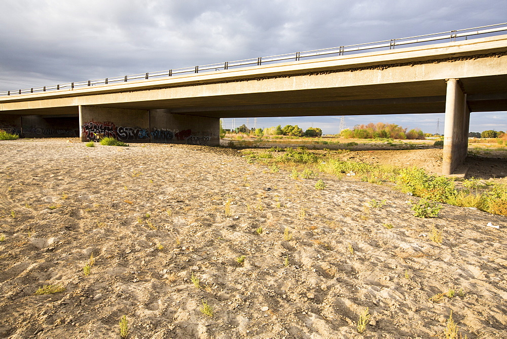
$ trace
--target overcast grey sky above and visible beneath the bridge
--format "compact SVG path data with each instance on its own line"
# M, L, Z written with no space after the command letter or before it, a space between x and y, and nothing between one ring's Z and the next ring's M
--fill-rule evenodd
M0 91L291 53L507 21L507 0L16 0L0 7ZM443 114L346 117L435 132ZM236 126L246 119L236 119ZM225 119L226 127L231 119ZM340 117L259 118L336 133ZM250 118L253 127L253 118ZM470 131L506 130L507 112Z

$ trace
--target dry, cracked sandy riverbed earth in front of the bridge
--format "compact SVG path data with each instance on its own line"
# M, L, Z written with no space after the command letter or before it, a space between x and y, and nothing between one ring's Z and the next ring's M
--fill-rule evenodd
M120 337L123 315L130 338L430 337L451 311L468 338L505 337L505 217L415 218L399 191L316 190L239 155L1 141L0 337ZM65 290L35 295L50 284Z

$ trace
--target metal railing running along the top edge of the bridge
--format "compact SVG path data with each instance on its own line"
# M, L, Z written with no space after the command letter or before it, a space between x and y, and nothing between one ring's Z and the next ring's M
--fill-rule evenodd
M441 41L441 40L448 40L449 42L453 42L453 41L456 41L456 40L459 40L462 38L464 38L466 40L468 37L475 37L475 36L484 35L484 34L493 35L495 33L502 32L502 31L507 31L507 22L494 24L494 25L488 25L488 26L480 26L480 27L465 28L465 29L459 29L459 30L451 30L451 31L446 31L446 32L432 33L432 34L427 34L427 35L422 35L422 36L414 36L414 37L408 37L408 38L397 38L397 39L376 41L376 42L364 43L364 44L346 45L346 46L332 47L332 48L323 48L323 49L316 49L316 50L311 50L311 51L278 54L278 55L236 60L236 61L226 61L226 62L220 62L220 63L210 63L207 65L183 67L180 69L172 69L172 70L167 70L167 71L140 73L140 74L126 75L126 76L114 77L114 78L86 80L86 81L69 82L69 83L65 83L65 84L58 84L58 85L51 85L51 86L25 88L25 89L13 90L13 91L3 91L3 92L0 92L0 96L58 91L58 90L62 90L62 89L72 90L77 87L108 85L108 84L119 83L119 82L125 83L125 82L132 81L132 80L142 81L142 80L149 80L150 78L172 77L175 75L186 74L186 73L225 71L225 70L228 70L232 67L241 67L241 66L249 66L249 65L259 65L260 66L261 64L281 62L281 61L286 61L286 60L299 61L302 58L318 58L318 57L328 56L328 55L333 55L333 54L344 55L345 53L361 53L363 51L373 50L373 49L382 49L382 48L394 49L395 46L405 46L405 45L412 45L412 44L423 45L428 42Z

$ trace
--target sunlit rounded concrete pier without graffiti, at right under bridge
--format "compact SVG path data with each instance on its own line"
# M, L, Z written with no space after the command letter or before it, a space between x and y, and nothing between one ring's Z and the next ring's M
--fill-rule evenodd
M459 79L447 79L442 174L449 175L463 163L468 150L470 110Z

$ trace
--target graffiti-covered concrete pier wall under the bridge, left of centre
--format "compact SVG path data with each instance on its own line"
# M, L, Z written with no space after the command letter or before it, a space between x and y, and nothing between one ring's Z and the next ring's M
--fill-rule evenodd
M220 119L173 114L170 110L79 107L80 139L94 133L129 143L219 145Z

